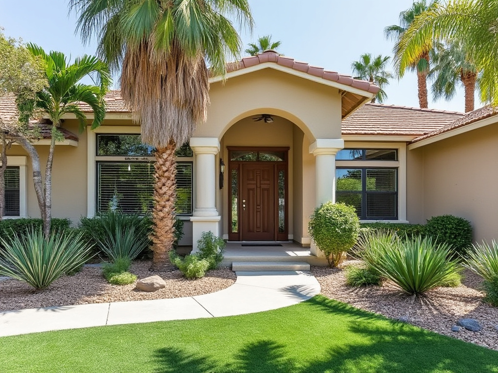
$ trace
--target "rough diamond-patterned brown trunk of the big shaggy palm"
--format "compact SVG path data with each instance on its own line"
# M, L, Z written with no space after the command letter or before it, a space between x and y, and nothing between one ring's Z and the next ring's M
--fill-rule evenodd
M172 269L169 252L175 240L176 144L170 140L166 148L154 153L154 208L152 209L153 271Z

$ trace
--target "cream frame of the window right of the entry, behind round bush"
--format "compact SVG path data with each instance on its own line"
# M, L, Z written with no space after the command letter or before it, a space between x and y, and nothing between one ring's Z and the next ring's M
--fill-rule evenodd
M335 162L336 168L397 168L397 219L361 219L362 223L371 222L393 222L408 223L406 220L406 143L405 142L359 142L346 141L344 149L385 149L397 150L397 161L372 161L372 160L352 160ZM334 171L335 174L335 171ZM335 177L335 175L334 175ZM336 192L336 190L334 191Z

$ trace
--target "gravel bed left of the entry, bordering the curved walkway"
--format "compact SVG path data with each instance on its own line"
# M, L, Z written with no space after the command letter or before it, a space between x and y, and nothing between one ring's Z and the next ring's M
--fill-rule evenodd
M21 308L51 307L72 304L120 302L127 300L178 298L215 292L231 286L235 273L228 268L209 271L202 279L187 280L180 271L151 272L150 261L135 261L130 272L143 279L158 275L167 286L154 292L135 289L135 284L111 285L99 267L84 267L74 276L65 276L47 289L36 292L18 280L0 281L0 312Z

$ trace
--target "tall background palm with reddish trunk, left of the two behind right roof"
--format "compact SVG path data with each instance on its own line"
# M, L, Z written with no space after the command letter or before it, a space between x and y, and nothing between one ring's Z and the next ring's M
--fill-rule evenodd
M403 52L401 46L399 45L399 40L404 35L408 27L410 27L418 15L422 14L436 2L437 0L431 0L429 3L427 3L426 0L414 1L409 9L403 10L399 13L399 25L391 25L384 28L386 38L396 41L393 49L395 56ZM418 103L421 108L428 107L427 74L429 73L429 52L430 47L426 46L425 48L422 48L417 58L414 58L410 65L405 66L404 69L398 69L400 77L404 75L404 72L407 69L417 72Z

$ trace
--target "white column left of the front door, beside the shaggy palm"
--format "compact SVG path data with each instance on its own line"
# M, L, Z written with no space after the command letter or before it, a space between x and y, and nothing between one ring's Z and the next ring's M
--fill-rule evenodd
M215 156L220 151L217 137L192 137L190 147L195 154L195 208L192 221L193 251L197 252L197 241L203 232L211 231L219 236L221 219L216 209L216 165Z

